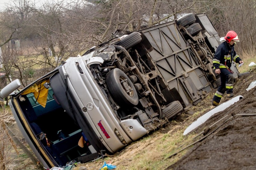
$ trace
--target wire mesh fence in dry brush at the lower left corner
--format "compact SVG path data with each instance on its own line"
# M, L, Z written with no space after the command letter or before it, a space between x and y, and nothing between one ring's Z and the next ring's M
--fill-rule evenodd
M0 111L0 169L42 169L9 110Z

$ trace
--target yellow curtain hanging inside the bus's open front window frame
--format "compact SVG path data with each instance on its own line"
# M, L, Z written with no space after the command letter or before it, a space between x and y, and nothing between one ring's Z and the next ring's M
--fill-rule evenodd
M47 101L48 89L44 87L44 83L49 83L49 79L42 81L41 84L34 84L29 89L27 89L25 92L23 92L22 95L34 93L34 96L35 96L35 99L37 99L37 102L42 107L45 107L46 101Z

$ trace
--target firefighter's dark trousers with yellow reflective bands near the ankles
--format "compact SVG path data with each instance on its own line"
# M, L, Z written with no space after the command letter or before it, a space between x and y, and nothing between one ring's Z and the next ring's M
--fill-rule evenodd
M233 83L234 83L234 76L231 72L227 69L220 69L221 70L221 85L218 87L215 95L213 96L213 101L220 103L222 95L227 91L227 94L233 93Z

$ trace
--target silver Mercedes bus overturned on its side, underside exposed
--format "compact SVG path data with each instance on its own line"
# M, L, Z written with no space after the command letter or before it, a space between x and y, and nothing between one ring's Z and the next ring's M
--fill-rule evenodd
M11 96L14 118L45 168L86 162L118 151L216 88L212 59L220 43L205 14L189 14L70 57L17 93L13 81L1 96Z

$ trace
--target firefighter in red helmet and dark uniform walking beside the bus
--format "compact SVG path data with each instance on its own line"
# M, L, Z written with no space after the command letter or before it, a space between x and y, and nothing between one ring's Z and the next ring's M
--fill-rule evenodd
M218 87L213 99L212 105L218 106L221 98L225 92L227 97L231 98L233 94L234 76L233 71L230 69L232 61L242 64L243 61L239 58L234 50L234 45L239 42L238 36L235 31L228 31L226 37L221 37L221 43L216 49L213 66L215 73L221 77L221 85Z

